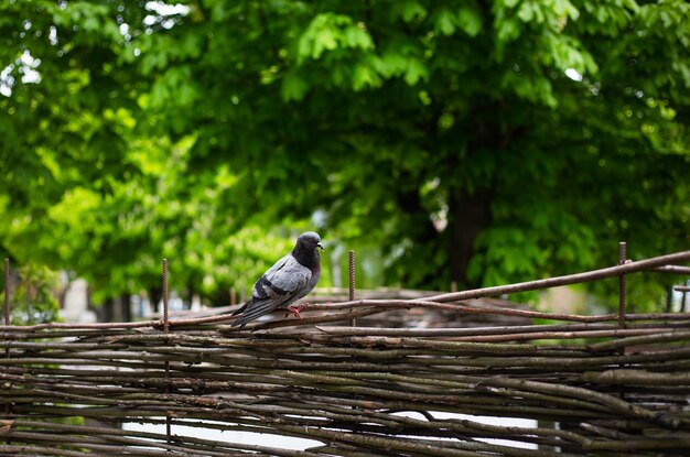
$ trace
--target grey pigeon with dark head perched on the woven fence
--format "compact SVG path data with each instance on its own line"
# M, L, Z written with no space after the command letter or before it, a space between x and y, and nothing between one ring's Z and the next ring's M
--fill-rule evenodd
M299 318L299 308L292 306L316 285L321 276L321 257L319 249L324 249L321 238L313 231L305 231L298 238L294 249L280 259L261 275L251 289L251 298L233 313L241 313L235 320L241 330L248 322L272 311L285 308Z

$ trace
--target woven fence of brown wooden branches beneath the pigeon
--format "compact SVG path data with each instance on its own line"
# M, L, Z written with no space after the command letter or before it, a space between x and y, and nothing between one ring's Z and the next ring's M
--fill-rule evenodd
M672 266L687 261L690 252L680 252L417 300L313 304L302 320L279 316L241 333L228 315L6 325L0 455L689 455L690 313L556 315L473 301L634 272L687 273ZM410 309L452 325L400 327ZM467 315L550 324L457 324ZM165 424L169 433L111 426L121 423ZM320 444L290 450L263 446L260 435L251 445L209 440L176 433L182 426Z

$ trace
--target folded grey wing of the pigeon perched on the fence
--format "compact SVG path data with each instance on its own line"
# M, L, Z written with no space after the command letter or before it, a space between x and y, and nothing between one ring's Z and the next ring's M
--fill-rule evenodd
M293 303L302 296L311 276L311 270L300 264L292 254L283 257L254 284L251 302L235 324L246 324Z

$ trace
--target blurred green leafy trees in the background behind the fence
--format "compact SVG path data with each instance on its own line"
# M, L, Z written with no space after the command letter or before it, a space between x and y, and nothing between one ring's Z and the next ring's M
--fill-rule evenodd
M687 250L689 47L673 0L4 0L13 318L152 312L162 258L173 307L227 305L304 230L324 287L348 249L440 291Z

